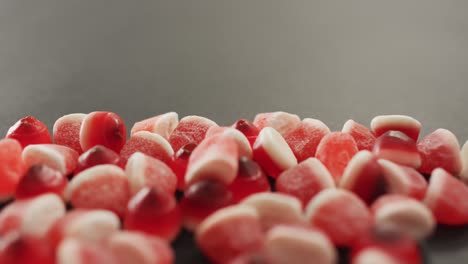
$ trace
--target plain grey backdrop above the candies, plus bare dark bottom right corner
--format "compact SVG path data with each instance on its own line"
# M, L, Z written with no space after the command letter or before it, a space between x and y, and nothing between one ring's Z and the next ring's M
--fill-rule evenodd
M0 0L2 134L27 114L110 110L131 126L285 110L332 129L404 113L464 142L467 83L464 0ZM433 263L468 257L451 232Z

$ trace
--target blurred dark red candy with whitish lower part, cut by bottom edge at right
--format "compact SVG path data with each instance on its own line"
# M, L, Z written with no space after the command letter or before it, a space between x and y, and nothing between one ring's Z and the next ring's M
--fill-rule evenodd
M351 249L353 264L422 264L417 242L387 229L372 229L356 237Z

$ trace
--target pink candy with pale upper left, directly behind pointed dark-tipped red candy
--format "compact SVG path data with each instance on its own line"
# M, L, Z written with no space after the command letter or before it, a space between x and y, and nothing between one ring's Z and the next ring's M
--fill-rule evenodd
M158 187L174 193L177 187L177 177L164 162L137 152L133 154L125 167L130 190L137 193L143 187Z

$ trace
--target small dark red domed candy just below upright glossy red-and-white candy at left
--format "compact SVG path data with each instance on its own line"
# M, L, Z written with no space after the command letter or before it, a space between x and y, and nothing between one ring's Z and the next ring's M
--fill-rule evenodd
M75 174L78 174L86 169L97 165L111 164L120 166L122 161L119 154L104 146L94 146L85 153L81 154L78 158Z

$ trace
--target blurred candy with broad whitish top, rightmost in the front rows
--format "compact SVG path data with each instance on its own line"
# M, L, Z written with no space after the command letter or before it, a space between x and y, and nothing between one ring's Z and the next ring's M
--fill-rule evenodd
M408 234L416 240L429 237L436 221L420 201L403 195L385 195L371 207L375 225Z

